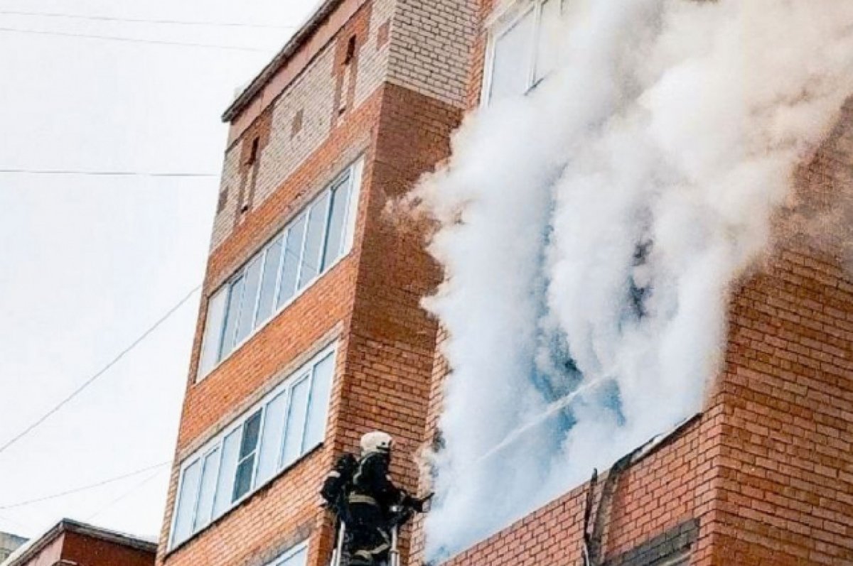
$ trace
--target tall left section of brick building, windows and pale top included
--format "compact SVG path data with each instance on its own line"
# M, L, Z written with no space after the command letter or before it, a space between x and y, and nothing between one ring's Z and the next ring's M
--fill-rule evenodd
M327 0L226 111L158 564L326 563L337 454L376 428L420 446L437 325L419 302L439 274L385 211L450 152L475 17Z

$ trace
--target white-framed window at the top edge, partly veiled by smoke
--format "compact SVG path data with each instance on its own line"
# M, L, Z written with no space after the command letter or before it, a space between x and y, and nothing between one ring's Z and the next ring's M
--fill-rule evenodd
M486 59L486 103L523 95L554 70L565 0L527 0L504 14Z

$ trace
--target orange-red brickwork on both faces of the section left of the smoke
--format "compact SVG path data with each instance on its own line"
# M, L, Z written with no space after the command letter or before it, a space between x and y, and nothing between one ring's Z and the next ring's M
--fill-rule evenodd
M399 453L421 443L436 325L420 308L438 280L422 246L421 227L386 214L390 199L409 190L449 153L461 112L386 85L338 122L329 140L244 221L210 257L209 296L293 212L360 152L365 155L351 255L317 280L203 381L194 383L204 324L200 313L160 547L160 564L262 564L310 535L309 563L325 563L332 546L317 492L336 453L354 450L367 430L397 436ZM417 124L413 127L413 124ZM165 552L179 464L280 380L282 370L329 335L339 336L327 442L227 512L174 552ZM395 473L416 488L415 466Z

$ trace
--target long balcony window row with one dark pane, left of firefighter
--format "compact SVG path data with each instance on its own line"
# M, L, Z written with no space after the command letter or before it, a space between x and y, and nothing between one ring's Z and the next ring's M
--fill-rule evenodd
M221 517L322 443L334 361L334 347L323 350L235 424L184 460L170 548Z

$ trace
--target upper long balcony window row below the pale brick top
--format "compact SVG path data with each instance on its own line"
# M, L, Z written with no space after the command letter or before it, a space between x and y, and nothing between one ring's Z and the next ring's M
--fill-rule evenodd
M204 378L352 244L362 163L317 195L207 302L198 378Z

